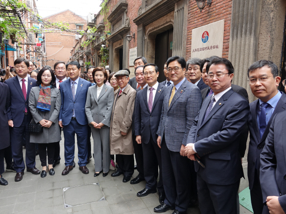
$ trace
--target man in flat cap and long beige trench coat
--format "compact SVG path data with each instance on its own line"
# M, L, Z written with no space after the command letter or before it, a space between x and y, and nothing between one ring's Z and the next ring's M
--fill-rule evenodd
M110 153L116 154L118 169L112 177L123 174L123 182L128 182L134 172L134 148L132 141L132 114L136 90L129 84L127 70L119 70L115 75L119 89L114 92L114 104L110 121Z

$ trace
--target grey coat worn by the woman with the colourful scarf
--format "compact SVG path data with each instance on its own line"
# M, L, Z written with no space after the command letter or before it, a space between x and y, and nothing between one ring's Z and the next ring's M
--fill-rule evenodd
M40 111L37 109L38 98L40 94L40 87L32 87L29 94L29 108L33 116L35 123L39 123L41 120L49 120L52 123L50 128L43 128L41 133L30 133L30 142L31 143L55 143L60 141L61 132L59 128L59 113L61 108L61 93L58 88L52 87L50 89L50 111Z

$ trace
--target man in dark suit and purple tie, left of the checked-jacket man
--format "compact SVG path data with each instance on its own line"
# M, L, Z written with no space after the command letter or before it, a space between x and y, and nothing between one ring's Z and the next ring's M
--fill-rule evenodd
M159 191L159 202L164 203L165 192L162 180L161 150L157 145L157 130L160 123L166 86L157 82L159 76L156 64L144 66L144 79L148 84L144 90L137 92L135 100L135 135L136 141L143 148L145 188L137 193L143 197ZM160 170L159 183L158 166Z

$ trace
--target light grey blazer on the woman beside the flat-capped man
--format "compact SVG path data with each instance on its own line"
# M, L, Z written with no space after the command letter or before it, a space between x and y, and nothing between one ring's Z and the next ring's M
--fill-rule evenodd
M85 113L88 123L103 123L104 126L102 128L110 127L113 102L113 87L104 84L98 98L97 85L89 87L85 103ZM92 125L90 126L93 127Z

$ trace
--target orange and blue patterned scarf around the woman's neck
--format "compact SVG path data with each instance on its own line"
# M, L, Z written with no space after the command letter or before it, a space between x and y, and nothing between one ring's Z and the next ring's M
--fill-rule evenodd
M43 84L40 85L40 94L38 98L38 104L37 108L40 111L50 111L50 88L49 86L43 86Z

